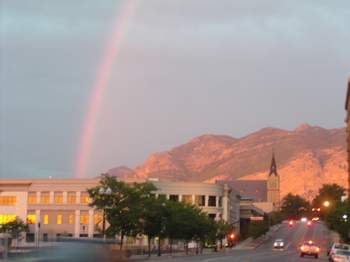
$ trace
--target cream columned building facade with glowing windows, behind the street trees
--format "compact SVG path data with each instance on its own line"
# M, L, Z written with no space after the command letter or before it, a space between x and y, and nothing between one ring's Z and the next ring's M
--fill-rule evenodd
M200 207L239 232L239 197L227 185L151 181L158 195ZM0 224L16 217L27 221L27 239L57 236L101 237L102 214L89 206L87 189L99 179L0 180Z

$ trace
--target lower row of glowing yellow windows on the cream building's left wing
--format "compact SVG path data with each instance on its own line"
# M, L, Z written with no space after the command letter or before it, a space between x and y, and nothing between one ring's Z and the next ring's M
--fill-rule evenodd
M102 214L95 213L94 214L94 224L97 225L102 221ZM80 214L79 222L81 225L87 225L89 223L89 215L87 213ZM58 213L58 214L43 214L42 223L44 225L48 224L68 224L68 225L74 225L75 223L75 215L74 213ZM35 214L28 214L27 215L27 223L28 224L35 224L37 222L36 215Z

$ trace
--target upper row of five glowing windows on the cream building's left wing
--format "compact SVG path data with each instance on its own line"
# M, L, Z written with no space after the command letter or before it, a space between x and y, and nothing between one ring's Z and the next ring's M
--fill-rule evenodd
M90 201L89 195L86 192L80 193L80 204L88 204ZM64 204L63 192L54 192L53 195L54 204ZM28 193L28 204L50 204L50 192L41 192L40 199L38 199L36 192ZM67 192L67 204L77 204L76 192Z

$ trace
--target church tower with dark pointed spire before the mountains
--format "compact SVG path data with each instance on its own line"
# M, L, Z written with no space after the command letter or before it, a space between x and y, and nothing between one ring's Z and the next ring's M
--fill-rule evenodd
M267 202L273 203L274 209L280 207L280 177L277 173L275 154L272 154L271 167L267 178Z

